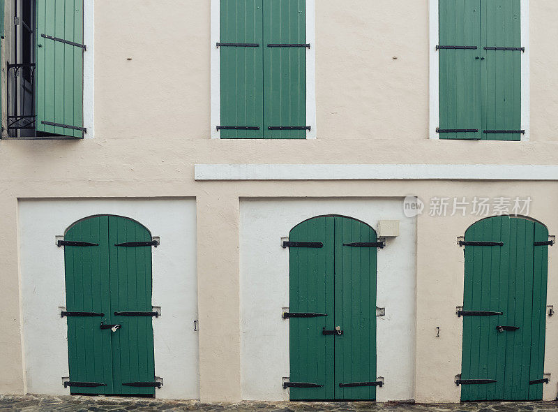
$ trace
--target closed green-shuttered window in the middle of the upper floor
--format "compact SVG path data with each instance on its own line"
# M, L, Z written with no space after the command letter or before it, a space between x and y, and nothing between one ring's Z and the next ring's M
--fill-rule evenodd
M313 79L307 76L313 75L308 66L314 45L307 22L313 0L213 1L219 21L213 137L310 138L315 103L308 101Z

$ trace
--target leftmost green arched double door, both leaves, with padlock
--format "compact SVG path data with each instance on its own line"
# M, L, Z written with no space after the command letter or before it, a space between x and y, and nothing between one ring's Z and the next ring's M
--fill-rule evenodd
M73 394L153 395L151 233L120 216L93 216L61 242Z

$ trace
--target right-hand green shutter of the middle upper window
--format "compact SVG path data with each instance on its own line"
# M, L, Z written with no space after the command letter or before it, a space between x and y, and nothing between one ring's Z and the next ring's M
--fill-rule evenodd
M306 1L269 0L264 5L264 136L305 139L303 130L269 127L306 126Z

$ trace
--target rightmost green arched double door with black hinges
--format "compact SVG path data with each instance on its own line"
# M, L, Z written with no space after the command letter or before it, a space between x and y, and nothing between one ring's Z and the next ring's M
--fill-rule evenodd
M542 399L548 230L495 216L465 233L461 399Z

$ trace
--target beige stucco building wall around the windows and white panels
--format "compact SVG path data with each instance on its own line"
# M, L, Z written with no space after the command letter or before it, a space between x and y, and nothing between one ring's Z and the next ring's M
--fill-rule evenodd
M24 392L18 198L197 198L200 393L240 399L239 198L531 196L554 182L195 182L195 163L558 163L558 5L530 4L531 142L428 139L428 2L317 0L317 140L209 138L209 0L96 1L96 137L0 142L0 392ZM398 59L392 59L392 57ZM132 60L128 61L127 58ZM462 251L472 216L418 219L416 400L459 399ZM432 244L436 247L432 247ZM558 302L550 248L548 302ZM549 320L545 370L558 376ZM435 339L435 327L441 337ZM553 399L557 386L545 385Z

